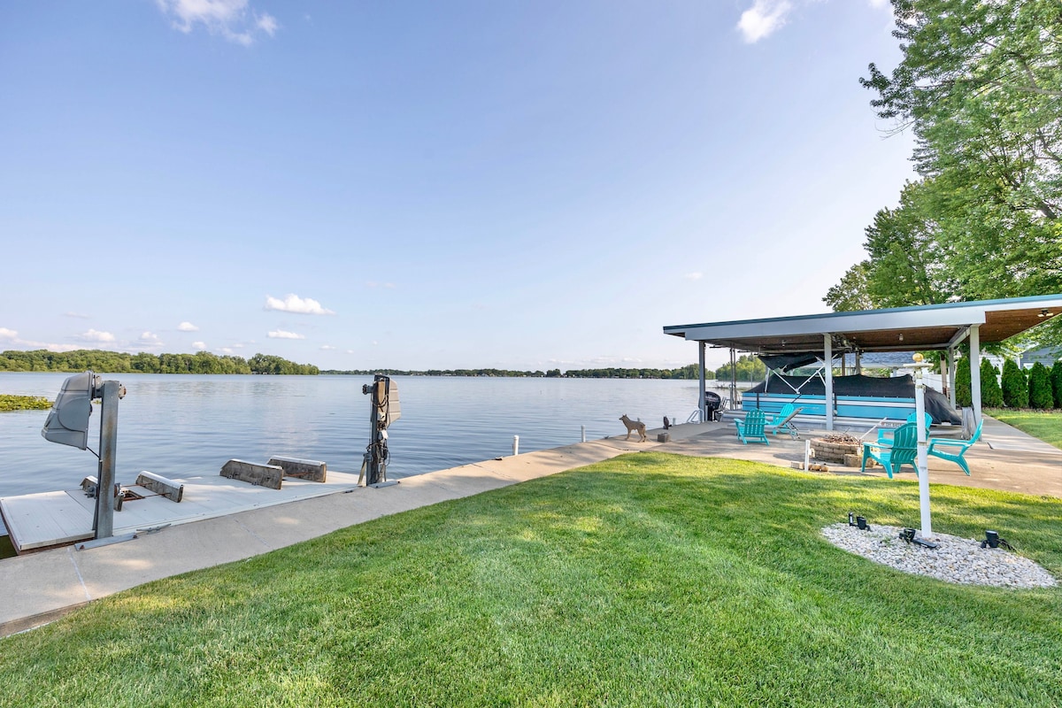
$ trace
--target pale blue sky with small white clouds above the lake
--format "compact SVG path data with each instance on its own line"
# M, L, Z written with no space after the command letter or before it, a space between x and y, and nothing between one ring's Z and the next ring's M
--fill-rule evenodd
M0 4L0 350L678 367L915 177L884 0ZM708 365L729 352L708 351Z

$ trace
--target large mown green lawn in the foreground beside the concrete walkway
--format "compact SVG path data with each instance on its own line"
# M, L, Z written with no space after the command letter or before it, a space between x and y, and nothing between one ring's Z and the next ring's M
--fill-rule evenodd
M1062 501L933 487L1062 575ZM912 482L663 453L384 517L0 640L0 705L1057 706L1062 589L845 553Z

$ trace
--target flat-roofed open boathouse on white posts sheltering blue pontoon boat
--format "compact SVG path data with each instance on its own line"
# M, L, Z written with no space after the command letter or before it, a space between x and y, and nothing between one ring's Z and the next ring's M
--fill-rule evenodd
M707 347L729 348L731 361L736 351L756 355L767 364L768 381L759 391L746 392L742 408L778 410L783 401L805 408L804 414L822 415L825 429L834 430L839 416L846 418L904 419L914 410L913 382L892 384L864 382L860 376L860 357L884 351L941 351L942 375L948 382L948 401L933 412L937 421L946 420L949 403L955 408L955 378L958 369L957 349L970 345L971 394L973 424L981 418L980 352L984 344L1003 342L1062 313L1062 294L1014 297L972 303L946 303L918 307L829 312L826 314L740 320L733 322L669 325L664 333L697 342L700 350L700 401L705 419L705 350ZM834 361L842 355L854 355L855 377L837 378ZM781 372L818 362L821 377L795 379L781 376L772 392L771 369ZM812 377L815 378L815 377ZM792 380L788 380L792 379ZM809 385L810 384L810 385ZM904 394L902 386L910 386ZM732 386L732 399L736 398ZM731 405L735 405L732 400ZM939 402L939 401L938 401Z

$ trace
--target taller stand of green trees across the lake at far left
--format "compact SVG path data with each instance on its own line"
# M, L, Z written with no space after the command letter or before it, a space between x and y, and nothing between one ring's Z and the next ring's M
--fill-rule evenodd
M209 351L193 355L152 355L78 349L75 351L0 352L0 372L106 372L107 374L303 374L315 376L320 369L312 364L256 353L250 360L242 357L219 357Z

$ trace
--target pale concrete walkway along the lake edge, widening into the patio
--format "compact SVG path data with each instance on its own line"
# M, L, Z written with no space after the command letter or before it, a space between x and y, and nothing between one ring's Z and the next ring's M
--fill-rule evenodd
M153 580L240 560L390 514L469 497L554 474L632 451L657 449L697 456L754 460L789 467L804 442L777 436L770 446L742 445L734 426L676 426L670 442L622 436L490 460L401 480L380 489L358 488L232 516L162 529L134 540L75 551L72 547L0 560L0 637L50 622L87 602ZM933 483L960 484L1062 498L1062 450L986 418L983 438L966 453L972 476L931 457ZM804 433L804 437L815 433ZM827 473L859 476L833 467ZM866 472L884 477L881 471ZM906 473L902 479L913 479Z

